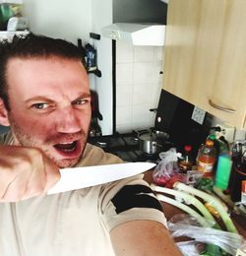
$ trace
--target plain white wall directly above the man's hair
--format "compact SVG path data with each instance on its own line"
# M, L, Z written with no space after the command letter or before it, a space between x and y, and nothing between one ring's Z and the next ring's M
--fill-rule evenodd
M31 32L60 37L77 43L89 41L92 32L92 1L88 0L23 0L24 15Z

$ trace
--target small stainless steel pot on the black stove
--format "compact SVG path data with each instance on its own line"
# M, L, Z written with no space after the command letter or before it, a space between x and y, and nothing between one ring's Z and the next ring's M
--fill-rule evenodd
M138 134L140 150L147 154L159 153L162 150L161 141L158 141L153 131L142 131Z

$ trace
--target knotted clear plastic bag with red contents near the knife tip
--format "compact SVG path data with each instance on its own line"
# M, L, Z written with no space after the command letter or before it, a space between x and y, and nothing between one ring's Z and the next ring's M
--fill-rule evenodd
M156 165L153 172L155 184L171 187L171 184L175 181L184 181L184 176L181 173L178 173L178 154L175 148L171 148L167 152L161 152L159 157L161 160Z

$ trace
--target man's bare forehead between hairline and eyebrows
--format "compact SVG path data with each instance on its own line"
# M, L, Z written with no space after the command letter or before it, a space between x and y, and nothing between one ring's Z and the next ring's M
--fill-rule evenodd
M89 90L88 75L80 60L62 57L12 58L6 70L13 93L59 93Z

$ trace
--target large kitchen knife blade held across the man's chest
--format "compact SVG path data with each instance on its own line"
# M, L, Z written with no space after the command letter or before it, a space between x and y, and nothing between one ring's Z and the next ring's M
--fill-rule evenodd
M153 162L127 162L60 169L60 180L48 190L47 194L56 194L70 190L91 187L122 178L130 177L149 170Z

